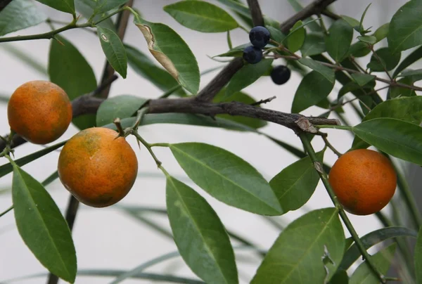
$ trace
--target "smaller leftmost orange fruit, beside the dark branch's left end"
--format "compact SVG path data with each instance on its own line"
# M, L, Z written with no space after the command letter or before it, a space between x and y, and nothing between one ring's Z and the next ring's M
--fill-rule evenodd
M35 144L55 141L72 121L68 95L48 81L30 81L16 89L7 106L13 131Z

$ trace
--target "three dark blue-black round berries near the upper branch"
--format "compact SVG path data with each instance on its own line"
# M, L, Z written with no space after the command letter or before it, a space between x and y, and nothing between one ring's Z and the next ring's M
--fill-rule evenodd
M261 26L252 28L249 32L252 46L248 46L243 50L243 59L250 64L259 63L262 60L262 49L268 44L269 37L270 34L267 28ZM274 84L285 84L290 79L290 69L284 65L274 67L270 76Z

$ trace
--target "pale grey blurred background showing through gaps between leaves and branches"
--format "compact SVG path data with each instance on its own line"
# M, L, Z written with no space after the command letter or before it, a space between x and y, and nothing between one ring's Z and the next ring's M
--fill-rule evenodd
M225 33L204 34L188 30L182 27L167 13L162 11L162 6L171 4L175 1L167 0L135 0L134 8L137 8L143 17L151 22L163 22L176 30L181 37L190 46L196 55L200 70L207 70L211 67L221 66L224 63L218 63L211 60L208 56L215 56L227 51L229 48L226 43ZM210 1L221 5L217 1ZM372 3L366 14L364 26L373 26L373 31L377 27L389 22L392 15L402 6L405 0L338 0L331 6L335 13L340 15L349 15L360 19L364 9L369 3ZM310 1L300 1L304 6ZM264 14L269 15L279 22L283 22L295 11L288 4L287 0L261 0L261 8ZM39 11L48 15L53 20L70 22L71 15L54 11L53 9L37 3ZM226 9L227 11L228 9ZM132 17L132 16L131 16ZM328 25L328 21L326 22ZM56 25L59 27L59 25ZM8 34L13 36L18 34L38 34L49 31L49 26L45 23L31 27L26 30ZM62 34L87 58L97 77L101 79L101 72L105 63L105 56L101 50L98 38L91 32L83 30L70 30ZM355 37L357 34L355 34ZM248 34L241 29L231 32L233 45L237 46L248 42ZM135 46L137 49L148 54L146 41L137 27L132 25L132 19L129 20L127 33L124 42ZM0 94L10 96L13 91L24 82L34 79L48 79L46 67L49 55L48 40L20 41L11 44L0 44ZM385 40L378 44L378 48L385 45ZM12 52L13 51L13 52ZM38 67L23 62L17 56L22 53L30 56ZM404 58L405 54L402 54ZM369 55L370 56L370 55ZM358 62L366 65L369 56L358 58ZM152 56L151 56L152 58ZM282 61L274 61L274 65L283 64ZM414 67L414 66L412 66ZM415 67L416 69L416 67ZM201 78L201 87L205 86L218 71L212 72ZM385 76L378 73L381 77ZM269 77L262 77L260 80L249 86L244 91L256 100L276 96L276 100L265 105L265 108L271 108L283 112L290 112L291 104L295 91L302 79L301 75L293 72L290 81L282 86L276 86ZM74 82L78 84L78 82ZM340 86L336 85L331 93L332 98L336 98ZM113 84L110 96L122 94L131 94L143 98L157 98L162 94L153 84L137 75L130 67L127 79L119 78ZM385 93L381 92L385 97ZM345 107L347 120L354 125L359 122L359 118L350 112L349 107ZM314 107L303 112L305 115L320 115L323 109ZM6 116L6 102L0 103L0 114L3 117L0 120L0 134L8 133L8 122ZM215 146L226 148L232 153L242 157L250 162L267 179L278 174L281 169L287 167L297 158L283 148L277 146L274 142L257 134L239 133L236 131L227 131L224 129L212 129L201 127L180 126L176 124L155 124L141 127L141 135L150 143L159 142L204 142ZM268 124L262 131L271 134L281 141L300 147L300 140L290 129L280 127L276 124ZM352 145L352 135L347 131L327 130L328 139L340 152L345 152ZM72 125L60 141L70 138L77 133L77 129ZM165 209L165 179L162 173L156 168L155 162L148 155L145 148L139 148L133 138L128 138L139 157L139 179L137 179L132 191L117 205L103 209L94 209L81 205L73 229L73 239L77 250L78 269L80 270L121 270L129 271L136 266L148 262L162 254L174 252L177 250L172 238L167 235L170 233L170 226L167 218L162 214L143 212L138 216L129 214L128 208L134 207L154 207ZM58 141L56 141L58 142ZM56 143L55 142L55 143ZM321 150L324 144L320 138L314 138L314 147ZM23 157L42 146L25 143L15 151L15 157ZM155 153L163 162L165 168L170 174L176 176L195 188L203 195L210 205L216 210L219 217L229 231L241 235L250 240L260 248L267 250L280 233L280 229L271 224L268 218L261 217L239 209L224 205L222 202L211 198L207 193L195 186L188 180L177 162L172 157L170 150L166 148L156 148ZM32 174L39 181L43 181L47 176L56 171L59 152L55 151L41 159L27 164L23 167L25 171ZM326 150L325 160L332 165L336 156L330 150ZM4 164L6 160L1 160ZM418 188L416 176L420 176L420 168L414 167L407 171L409 179L413 183L413 189ZM0 179L0 212L11 205L11 174ZM56 180L47 187L54 200L57 202L62 212L68 203L69 193ZM419 196L420 198L420 196ZM326 194L325 188L319 183L312 198L305 207L294 212L288 212L281 217L271 218L278 226L286 226L290 221L300 217L311 209L333 206L331 200ZM389 214L390 208L383 209ZM364 235L377 228L381 224L375 217L358 217L350 215L359 235ZM160 230L151 227L158 226ZM345 235L349 234L345 231ZM236 245L237 243L234 242ZM251 277L255 274L257 266L260 264L260 258L250 250L236 250L236 259L238 261L238 272L241 283L249 283ZM196 278L188 269L180 257L174 257L166 262L151 266L146 272L153 273L171 273L177 276L186 276ZM0 219L0 281L21 276L27 276L34 273L46 273L41 264L35 259L30 250L20 238L15 228L13 212L9 212ZM105 277L87 277L78 276L76 283L109 283L113 278ZM14 283L45 283L46 276L39 278L23 279ZM125 280L124 283L151 283L151 280Z

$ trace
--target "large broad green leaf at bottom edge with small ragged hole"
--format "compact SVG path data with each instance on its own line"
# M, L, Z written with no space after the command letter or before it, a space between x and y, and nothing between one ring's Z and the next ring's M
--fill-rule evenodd
M345 235L337 210L314 210L281 232L251 284L324 283L335 273L344 247ZM325 259L328 263L324 265Z

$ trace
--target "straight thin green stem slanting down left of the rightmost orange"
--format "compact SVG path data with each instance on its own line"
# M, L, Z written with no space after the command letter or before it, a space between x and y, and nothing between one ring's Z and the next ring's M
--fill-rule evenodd
M376 268L376 266L373 263L369 253L366 252L366 248L365 248L364 244L362 243L362 240L359 238L359 235L357 235L356 231L354 230L352 222L350 221L349 217L347 217L347 214L346 214L345 210L343 209L343 207L340 205L340 202L338 202L337 196L335 196L333 188L331 188L331 185L328 182L327 174L326 174L326 172L324 172L323 167L321 167L321 162L319 162L318 157L316 157L315 150L312 147L311 142L307 138L306 133L305 132L300 133L299 138L300 138L300 141L302 141L303 147L305 148L309 157L311 158L312 162L314 163L316 172L318 172L322 183L324 183L324 186L325 186L325 188L328 192L328 195L330 195L331 200L333 201L335 207L338 209L338 214L340 214L340 217L341 217L341 219L343 219L343 222L345 223L347 230L349 231L350 235L352 235L354 243L356 243L359 251L362 254L362 257L364 259L366 259L366 264L369 265L369 268L373 271L373 273L381 281L381 283L385 283L385 277Z

